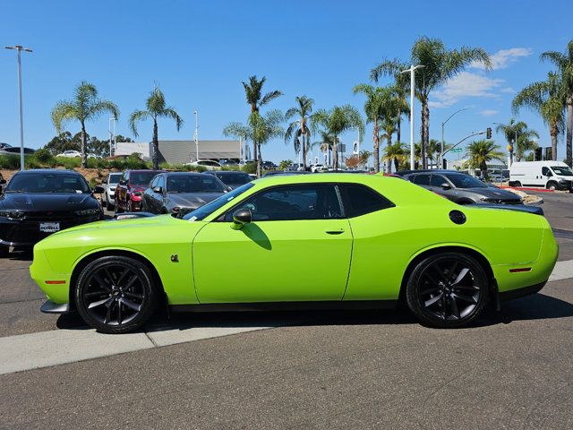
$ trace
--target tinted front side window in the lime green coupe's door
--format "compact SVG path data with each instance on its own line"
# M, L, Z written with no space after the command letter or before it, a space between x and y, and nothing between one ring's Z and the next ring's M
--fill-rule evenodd
M287 185L270 188L240 203L225 215L249 209L253 221L343 218L338 193L334 185Z

